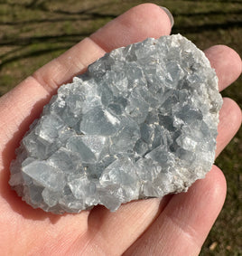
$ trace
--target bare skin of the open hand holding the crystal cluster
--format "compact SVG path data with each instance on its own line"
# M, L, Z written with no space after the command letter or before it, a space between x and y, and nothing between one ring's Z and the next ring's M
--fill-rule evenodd
M0 99L0 248L1 255L198 255L226 196L226 181L213 166L187 193L122 205L116 213L97 206L79 214L34 210L11 191L9 165L14 149L57 88L85 71L105 52L171 32L170 20L152 4L138 5L72 47ZM232 49L205 51L225 89L241 73ZM220 110L217 156L241 124L230 99Z

